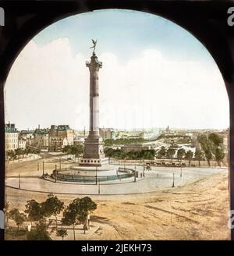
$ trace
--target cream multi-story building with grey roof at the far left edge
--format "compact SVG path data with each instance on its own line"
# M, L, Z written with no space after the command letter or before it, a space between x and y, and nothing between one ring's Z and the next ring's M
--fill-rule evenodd
M14 123L5 124L5 151L18 148L19 131Z

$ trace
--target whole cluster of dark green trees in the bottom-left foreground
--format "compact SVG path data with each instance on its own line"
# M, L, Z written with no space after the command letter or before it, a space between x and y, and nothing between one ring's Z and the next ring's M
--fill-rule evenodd
M46 201L41 203L33 200L27 201L24 213L13 208L6 211L6 219L13 219L16 222L17 230L23 222L30 221L31 226L36 222L36 226L27 233L27 240L51 240L48 233L49 222L47 219L55 216L56 234L63 237L67 235L67 230L64 228L58 229L58 215L62 214L61 223L64 226L73 226L73 236L75 236L75 228L78 224L83 224L83 231L89 229L88 215L97 208L97 204L90 197L76 198L69 205L65 205L58 197L53 194L48 194ZM8 207L6 207L8 208Z

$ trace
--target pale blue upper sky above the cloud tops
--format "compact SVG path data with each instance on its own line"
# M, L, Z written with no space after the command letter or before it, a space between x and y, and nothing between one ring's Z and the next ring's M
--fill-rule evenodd
M89 56L90 39L97 39L97 54L112 52L128 61L147 48L158 48L165 59L212 62L195 37L175 23L147 12L100 10L58 21L34 39L39 45L69 37L73 53Z

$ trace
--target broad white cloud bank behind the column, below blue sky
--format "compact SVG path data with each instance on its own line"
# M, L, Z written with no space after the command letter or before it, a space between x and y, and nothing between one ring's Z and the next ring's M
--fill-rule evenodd
M38 47L30 41L5 84L5 121L20 129L51 124L88 126L89 71L69 38ZM98 57L100 126L222 128L229 126L229 100L215 62L178 62L146 49L120 62Z

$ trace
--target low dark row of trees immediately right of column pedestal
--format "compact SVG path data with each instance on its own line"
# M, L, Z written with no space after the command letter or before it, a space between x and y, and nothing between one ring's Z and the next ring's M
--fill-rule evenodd
M137 159L148 159L154 160L154 150L139 150L125 152L122 149L108 148L105 150L105 156L108 158L126 159L126 160L137 160Z

